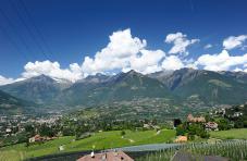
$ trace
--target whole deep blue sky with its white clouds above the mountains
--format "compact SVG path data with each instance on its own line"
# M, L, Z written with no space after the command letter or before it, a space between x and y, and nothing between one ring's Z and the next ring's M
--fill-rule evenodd
M246 0L0 0L0 85L182 67L247 72Z

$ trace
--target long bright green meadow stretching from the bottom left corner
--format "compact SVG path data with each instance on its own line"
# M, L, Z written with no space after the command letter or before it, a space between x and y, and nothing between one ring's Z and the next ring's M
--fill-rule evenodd
M25 144L9 146L0 149L0 161L21 160L32 157L40 157L51 153L58 153L58 147L64 145L67 151L90 150L92 146L96 149L109 149L124 146L145 145L165 143L175 137L175 131L162 129L159 134L156 131L132 132L125 131L122 138L121 131L96 133L91 137L73 140L73 136L60 137L40 145L25 147Z

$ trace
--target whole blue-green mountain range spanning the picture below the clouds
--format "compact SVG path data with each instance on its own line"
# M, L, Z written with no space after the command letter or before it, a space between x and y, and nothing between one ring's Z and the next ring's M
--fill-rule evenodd
M73 84L39 75L0 86L0 90L16 100L52 106L94 106L144 98L181 102L192 97L210 106L238 104L247 101L247 73L181 69L144 75L129 71L89 75ZM4 104L5 100L0 101Z

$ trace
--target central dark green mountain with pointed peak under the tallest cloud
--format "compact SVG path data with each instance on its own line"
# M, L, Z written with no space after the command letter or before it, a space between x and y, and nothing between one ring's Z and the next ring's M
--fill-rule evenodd
M102 82L76 83L63 90L59 100L65 100L69 104L94 104L138 98L173 98L173 96L161 82L131 71Z

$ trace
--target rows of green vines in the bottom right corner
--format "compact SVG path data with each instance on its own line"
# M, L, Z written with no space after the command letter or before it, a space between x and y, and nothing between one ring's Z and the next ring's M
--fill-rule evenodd
M194 159L201 160L202 156L218 156L233 161L247 160L247 141L229 140L215 144L188 144L178 147L149 152L137 161L170 161L177 152L189 153Z

